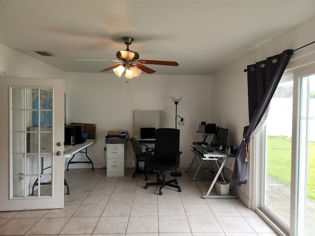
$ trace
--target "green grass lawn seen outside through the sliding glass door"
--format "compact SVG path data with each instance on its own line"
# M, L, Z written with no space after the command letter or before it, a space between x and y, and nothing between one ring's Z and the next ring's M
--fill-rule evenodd
M267 174L291 185L291 139L268 136ZM315 200L315 142L309 142L307 167L307 196Z

